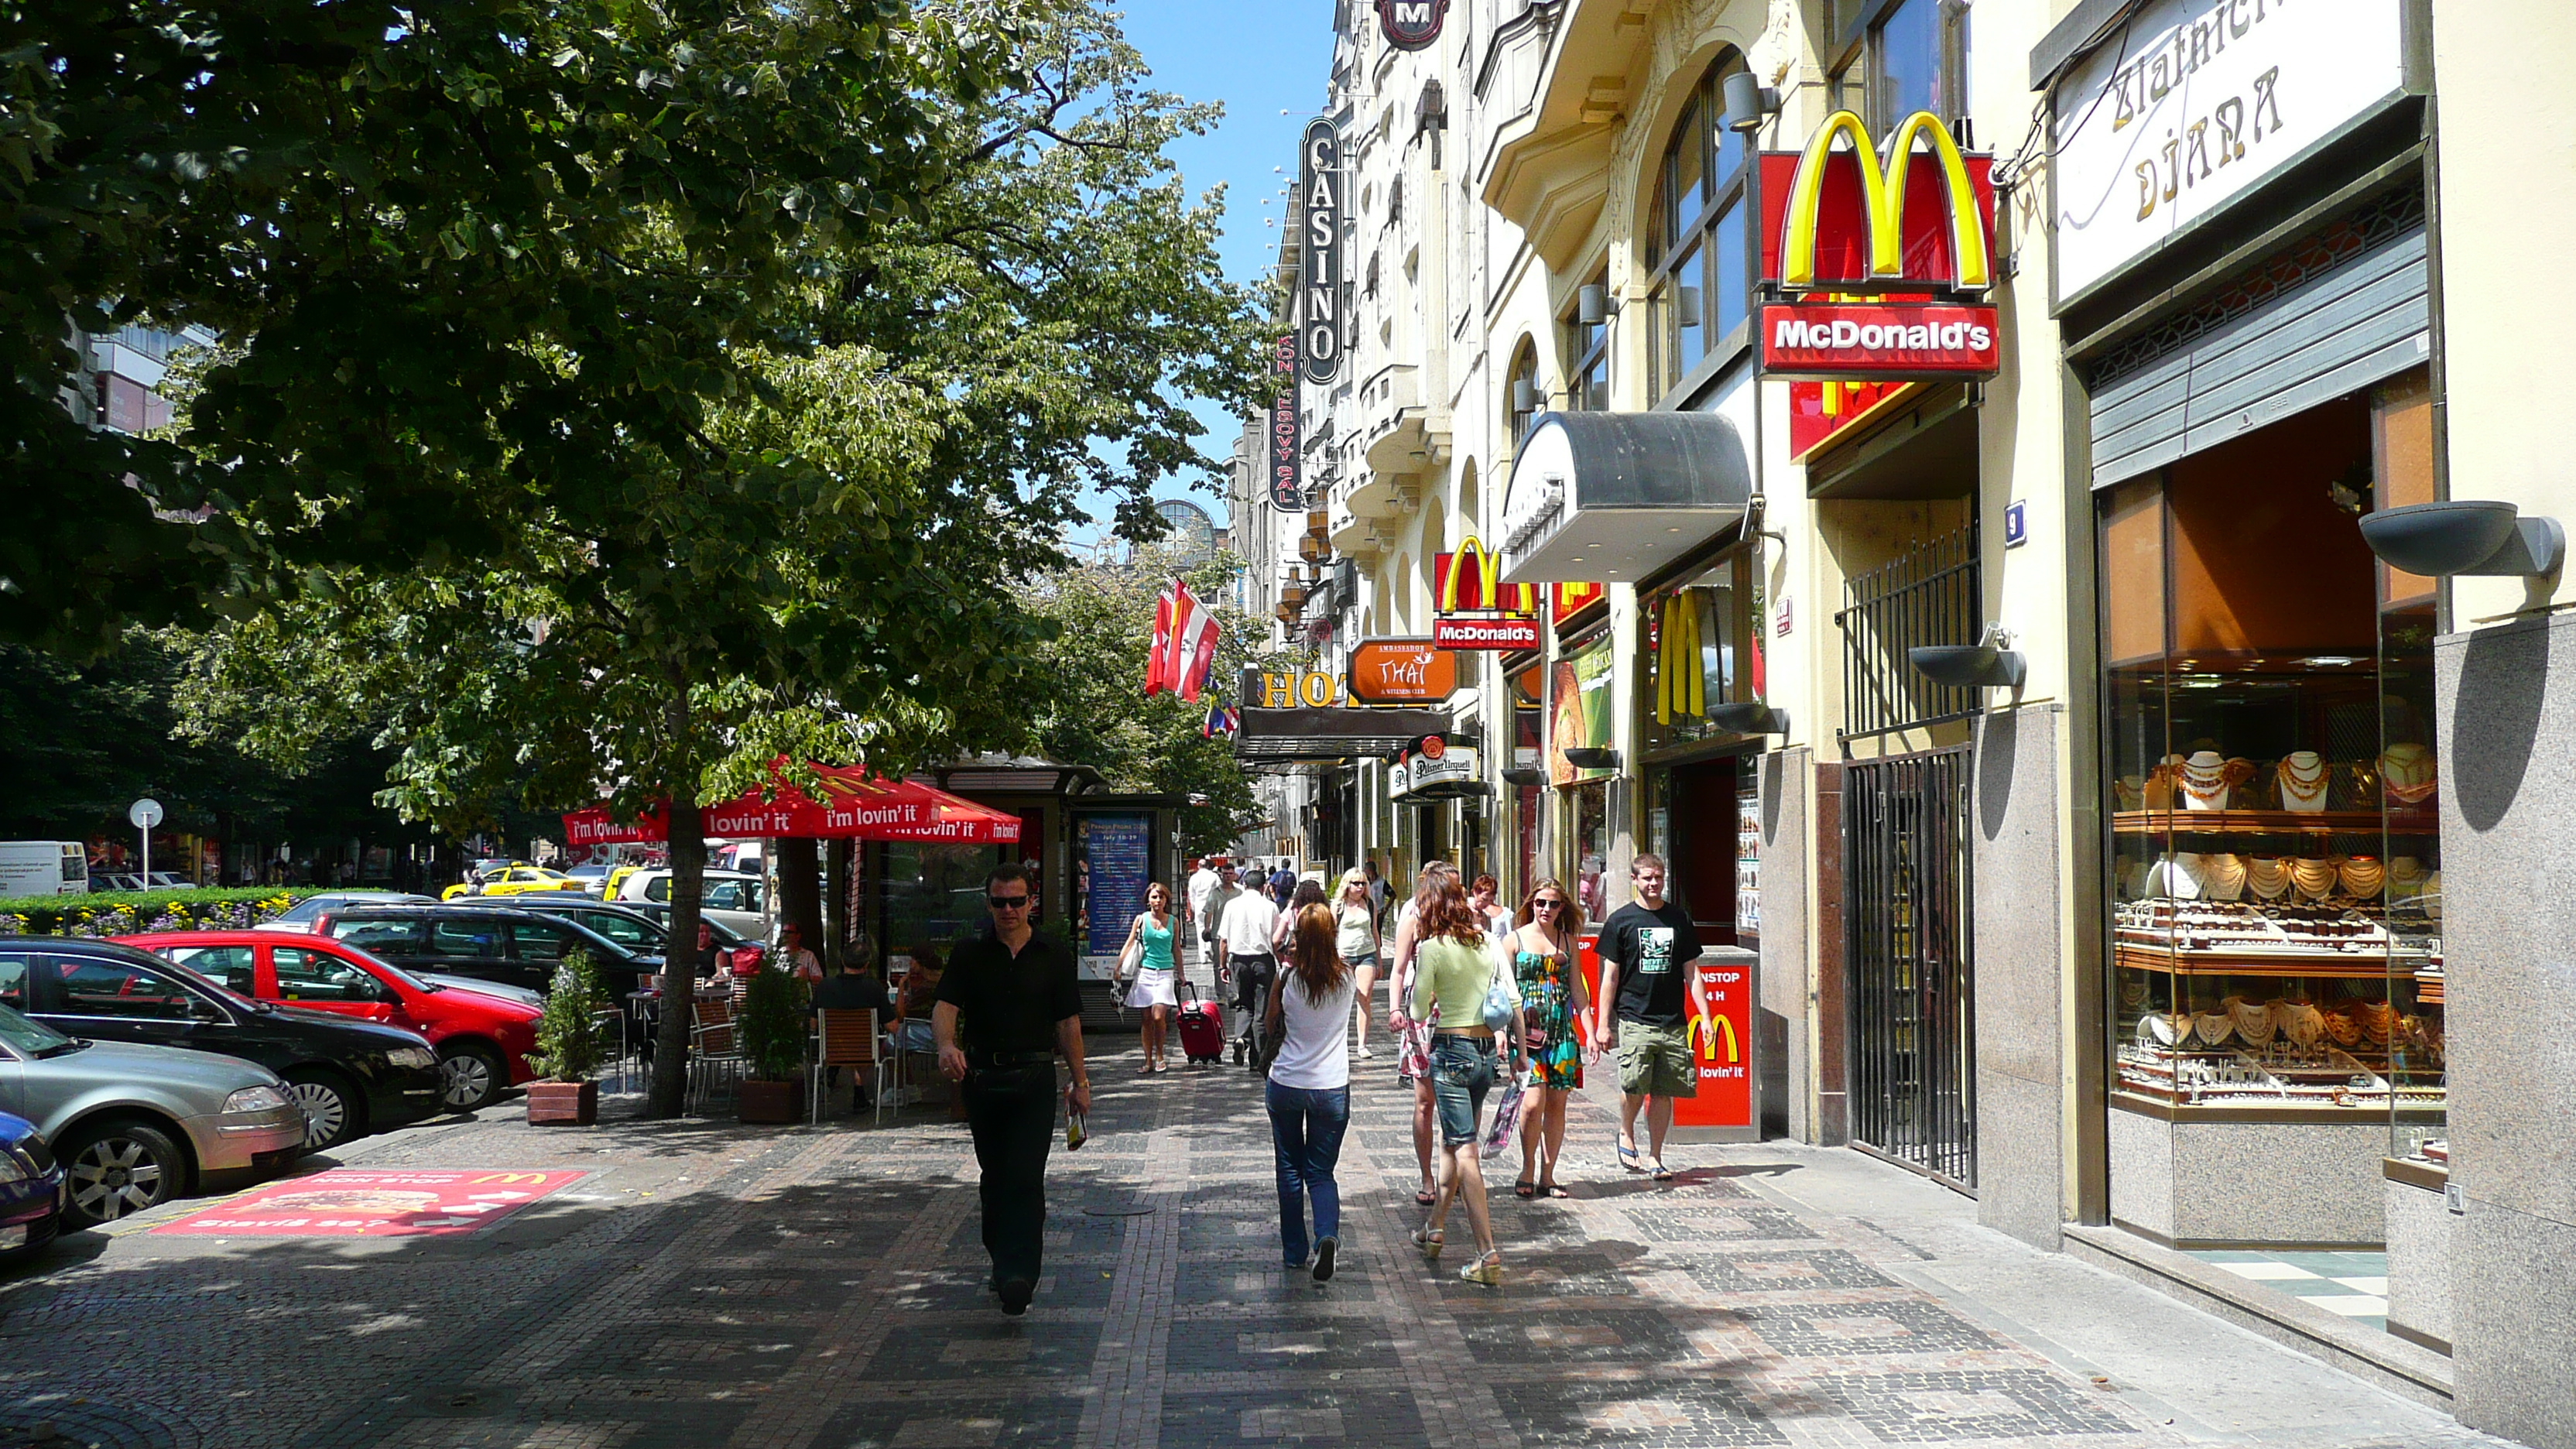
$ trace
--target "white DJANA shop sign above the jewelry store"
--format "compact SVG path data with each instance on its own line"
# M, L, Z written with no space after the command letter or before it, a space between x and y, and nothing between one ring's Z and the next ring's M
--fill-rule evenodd
M2063 307L2409 93L2406 0L2154 0L2056 85Z

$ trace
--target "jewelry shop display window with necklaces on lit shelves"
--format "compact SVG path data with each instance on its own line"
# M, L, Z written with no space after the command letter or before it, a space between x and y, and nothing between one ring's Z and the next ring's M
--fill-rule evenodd
M2398 394L2099 495L2112 1217L2177 1245L2380 1240L2439 1152L2432 585L2357 526L2429 480Z

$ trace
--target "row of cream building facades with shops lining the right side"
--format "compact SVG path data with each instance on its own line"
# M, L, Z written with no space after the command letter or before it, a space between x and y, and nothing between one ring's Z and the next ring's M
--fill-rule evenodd
M2576 485L2517 387L2576 302L2514 271L2576 240L2576 168L2519 139L2576 121L2548 80L2576 15L1458 0L1417 52L1368 5L1334 26L1347 356L1301 389L1316 516L1249 603L1345 681L1443 614L1517 608L1535 647L1404 701L1479 750L1471 789L1409 789L1365 719L1270 745L1332 820L1314 866L1556 877L1597 920L1662 853L1759 962L1767 1132L2576 1444L2576 877L2543 766L2576 737ZM1971 286L1953 232L1942 291L1994 309L1989 369L1759 376L1795 291L1777 188L1837 113L1891 178L1940 165L1917 116L1989 157L1989 266ZM2491 508L2396 513L2445 500ZM1236 539L1262 508L1239 490ZM2383 1312L2221 1266L2313 1248L2385 1253Z

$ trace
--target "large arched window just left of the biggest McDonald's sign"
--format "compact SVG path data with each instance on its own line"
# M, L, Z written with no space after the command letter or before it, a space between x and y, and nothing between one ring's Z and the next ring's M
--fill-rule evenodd
M1710 353L1741 345L1734 338L1752 299L1752 206L1747 178L1752 147L1718 124L1721 85L1744 59L1718 57L1692 88L1672 126L1654 178L1654 217L1646 232L1646 312L1654 320L1651 389L1656 397L1692 374Z

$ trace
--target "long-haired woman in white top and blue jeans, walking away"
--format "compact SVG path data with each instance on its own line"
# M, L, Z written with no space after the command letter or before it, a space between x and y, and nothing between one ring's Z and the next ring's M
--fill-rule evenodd
M1352 985L1350 964L1334 949L1332 908L1301 908L1265 1021L1265 1034L1280 1044L1270 1060L1267 1106L1280 1181L1280 1253L1291 1271L1306 1266L1306 1199L1314 1196L1319 1284L1332 1276L1342 1238L1342 1189L1332 1171L1350 1127Z

